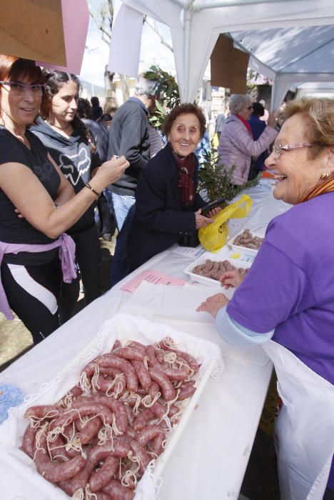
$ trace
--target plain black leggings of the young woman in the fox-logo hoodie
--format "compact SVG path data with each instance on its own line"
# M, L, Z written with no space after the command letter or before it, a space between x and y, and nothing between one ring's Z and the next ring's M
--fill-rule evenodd
M86 305L90 304L99 296L98 289L98 265L100 263L100 241L96 226L93 225L85 231L71 234L76 244L76 262L79 264L83 289L85 292ZM61 284L61 296L59 299L60 323L71 318L74 306L80 292L80 277L71 283Z

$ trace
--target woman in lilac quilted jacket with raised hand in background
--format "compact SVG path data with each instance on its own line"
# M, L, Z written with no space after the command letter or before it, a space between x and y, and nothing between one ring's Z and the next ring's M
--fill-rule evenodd
M268 126L254 140L248 123L253 112L251 97L232 94L228 106L231 114L226 119L219 138L219 164L223 164L225 171L234 168L231 184L241 186L248 181L252 156L257 158L268 149L278 134L275 130L275 111L269 115Z

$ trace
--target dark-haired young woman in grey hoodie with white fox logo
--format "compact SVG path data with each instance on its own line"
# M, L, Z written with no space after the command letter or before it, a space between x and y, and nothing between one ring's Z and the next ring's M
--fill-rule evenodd
M46 74L46 91L41 106L44 120L39 119L37 124L31 127L31 131L46 146L76 193L93 181L92 174L101 165L91 135L76 113L79 88L80 82L77 76L63 71L49 71ZM96 200L101 191L97 189L93 191ZM93 206L90 206L67 232L76 244L76 259L83 283L85 302L89 304L99 295L100 243ZM79 277L71 284L62 285L59 300L61 323L67 321L73 314L79 297L79 289Z

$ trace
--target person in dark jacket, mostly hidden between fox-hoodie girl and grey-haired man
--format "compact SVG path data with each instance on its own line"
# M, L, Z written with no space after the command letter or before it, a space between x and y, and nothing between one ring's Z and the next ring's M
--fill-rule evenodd
M108 153L108 130L103 126L103 122L100 121L103 115L96 121L92 120L91 104L89 104L87 99L82 99L81 97L79 97L77 113L91 134L100 161L106 161ZM115 227L111 219L108 200L106 196L104 196L104 193L98 198L97 209L100 226L98 232L104 241L111 241L111 236L115 232Z

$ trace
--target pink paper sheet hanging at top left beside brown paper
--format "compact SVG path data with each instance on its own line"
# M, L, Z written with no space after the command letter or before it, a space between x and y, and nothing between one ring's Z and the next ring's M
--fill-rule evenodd
M57 66L43 61L36 61L36 64L44 66L44 68L68 71L79 75L89 22L87 0L61 0L61 11L63 14L66 66Z

